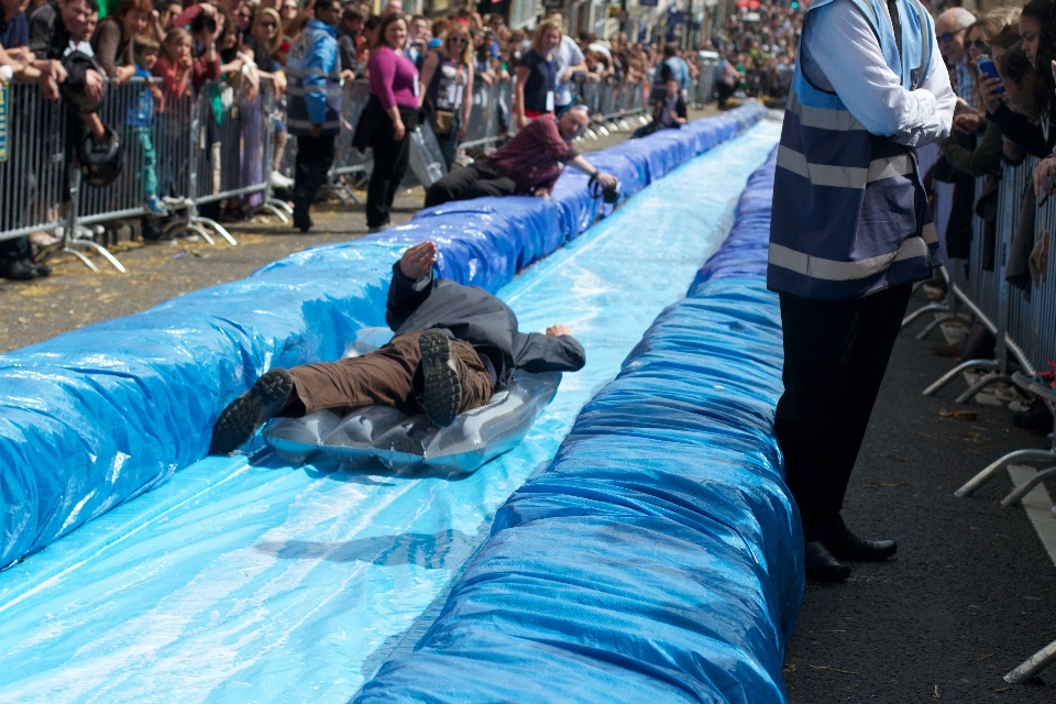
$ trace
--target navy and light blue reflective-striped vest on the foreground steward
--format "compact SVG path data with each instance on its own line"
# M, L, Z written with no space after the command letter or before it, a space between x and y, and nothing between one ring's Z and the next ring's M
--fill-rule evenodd
M850 1L872 26L888 67L904 88L916 89L936 61L927 12L917 0L895 0L900 56L882 0ZM802 298L858 298L930 278L937 256L916 152L867 132L801 44L778 147L767 287Z

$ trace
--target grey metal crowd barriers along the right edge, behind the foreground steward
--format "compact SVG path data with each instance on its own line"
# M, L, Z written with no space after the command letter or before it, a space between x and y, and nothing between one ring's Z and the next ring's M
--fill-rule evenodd
M934 152L937 152L937 148L921 150L922 173L934 162ZM1025 199L1033 198L1033 172L1037 164L1038 160L1031 157L1019 166L1004 166L998 191L993 242L987 241L983 221L974 216L968 258L948 260L944 267L948 283L947 301L925 306L905 320L909 322L926 310L934 310L939 312L937 322L958 317L958 309L963 307L994 336L994 359L967 360L958 364L924 389L926 395L934 394L965 371L986 370L987 374L957 398L959 403L970 400L991 384L1011 382L1042 399L1050 411L1056 410L1056 389L1033 380L1037 370L1044 370L1050 362L1056 361L1056 257L1049 253L1044 258L1040 271L1040 286L1031 284L1030 300L1026 300L1023 290L1013 287L1005 279L1022 209L1030 208L1030 202ZM977 196L982 190L983 180L980 178L976 182ZM941 230L948 219L952 195L950 187L936 188L936 222ZM1037 244L1041 238L1050 237L1050 233L1056 231L1056 205L1046 202L1041 208L1036 205L1034 208L1036 219L1032 239L1034 244ZM993 249L988 251L991 244ZM934 326L933 322L923 332L927 333ZM1046 469L1016 486L1002 499L1003 506L1020 503L1038 483L1046 477L1056 476L1056 421L1049 448L1016 450L998 458L958 488L955 495L970 496L1013 463L1040 464ZM1056 641L1009 672L1004 680L1013 684L1028 682L1054 662Z

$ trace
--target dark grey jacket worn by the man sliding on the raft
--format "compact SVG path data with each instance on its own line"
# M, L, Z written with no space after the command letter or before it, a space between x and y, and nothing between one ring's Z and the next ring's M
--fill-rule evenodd
M486 354L499 381L514 370L576 372L586 363L583 345L572 336L551 338L517 329L517 316L497 297L476 286L428 276L414 280L393 266L385 322L396 334L440 328L454 340Z

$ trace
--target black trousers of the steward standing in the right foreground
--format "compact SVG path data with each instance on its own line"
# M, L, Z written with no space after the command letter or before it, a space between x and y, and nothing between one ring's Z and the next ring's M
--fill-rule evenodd
M781 294L784 394L773 430L807 541L838 520L912 286L855 300Z

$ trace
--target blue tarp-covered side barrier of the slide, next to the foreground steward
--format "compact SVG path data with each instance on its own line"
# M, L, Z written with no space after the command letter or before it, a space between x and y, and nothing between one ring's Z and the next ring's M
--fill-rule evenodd
M773 156L728 246L499 509L372 702L785 702L803 596L799 515L772 435L781 324L766 290ZM766 208L762 207L767 204Z

